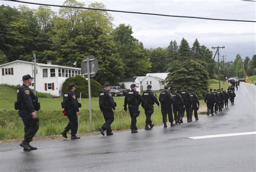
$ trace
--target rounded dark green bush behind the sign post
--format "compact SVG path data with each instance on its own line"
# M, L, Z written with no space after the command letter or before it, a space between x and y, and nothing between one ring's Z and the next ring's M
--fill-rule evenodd
M88 98L88 81L86 78L82 76L76 76L76 77L70 77L65 80L65 82L62 85L62 92L67 92L69 90L69 84L74 83L77 85L76 88L76 95L79 96L80 92L82 92L83 98ZM91 79L91 96L92 97L99 97L100 91L103 89L102 85L98 83L97 81Z

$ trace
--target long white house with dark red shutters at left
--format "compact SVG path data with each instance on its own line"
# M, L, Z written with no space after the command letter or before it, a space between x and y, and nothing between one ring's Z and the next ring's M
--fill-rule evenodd
M16 60L1 64L0 84L22 85L22 76L30 74L33 76L33 62ZM36 63L36 90L52 94L53 96L62 96L62 84L68 77L81 75L80 68L54 65L48 62ZM33 89L34 83L31 88Z

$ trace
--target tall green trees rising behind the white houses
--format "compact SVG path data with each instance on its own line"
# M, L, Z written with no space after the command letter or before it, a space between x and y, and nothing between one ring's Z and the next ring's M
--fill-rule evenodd
M63 5L85 6L76 0L66 0ZM103 3L88 6L105 9ZM30 9L24 5L18 8L2 5L0 63L17 59L31 61L31 54L36 53L38 62L51 60L72 66L76 61L80 67L86 55L95 55L99 61L95 80L101 84L117 84L122 77L144 76L150 72L169 72L170 85L178 87L193 78L191 84L204 85L205 90L206 80L214 78L216 65L212 52L198 40L191 48L184 38L179 45L171 40L166 48L145 48L133 37L130 25L114 26L112 21L113 17L106 11L60 8L54 12L48 6ZM253 73L251 70L248 71Z

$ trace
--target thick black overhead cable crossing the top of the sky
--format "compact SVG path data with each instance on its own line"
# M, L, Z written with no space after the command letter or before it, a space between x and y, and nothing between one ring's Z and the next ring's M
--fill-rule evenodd
M44 6L56 6L56 7L64 7L64 8L85 9L85 10L133 13L133 14L138 14L138 15L151 15L151 16L164 16L164 17L179 17L179 18L194 18L194 19L220 20L220 21L239 21L239 22L253 22L253 23L256 22L255 20L235 20L235 19L206 18L206 17L194 17L194 16L177 16L177 15L164 15L164 14L149 13L149 12L136 12L136 11L122 11L122 10L97 9L97 8L86 8L86 7L82 7L82 6L54 5L54 4L43 4L43 3L24 2L24 1L14 1L14 2L25 3L25 4L33 4L33 5L44 5Z

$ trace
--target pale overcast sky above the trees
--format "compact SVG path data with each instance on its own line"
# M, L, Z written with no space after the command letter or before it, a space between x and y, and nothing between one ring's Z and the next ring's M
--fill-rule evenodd
M25 0L24 0L25 1ZM167 15L196 16L208 18L256 20L256 2L235 0L77 0L85 6L92 2L101 2L107 9L137 12L161 13ZM64 0L28 2L49 3L62 5ZM11 6L20 3L0 2ZM37 8L37 5L28 5ZM59 8L52 8L58 11ZM198 39L201 45L225 46L220 50L221 55L227 55L227 60L233 60L236 54L242 58L256 54L256 24L214 21L201 19L186 19L160 16L135 15L128 13L110 12L114 17L113 24L129 24L133 28L133 36L142 41L146 48L167 47L171 40L178 44L184 37L192 46Z

